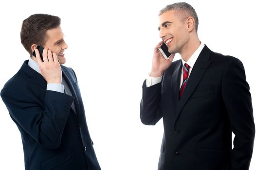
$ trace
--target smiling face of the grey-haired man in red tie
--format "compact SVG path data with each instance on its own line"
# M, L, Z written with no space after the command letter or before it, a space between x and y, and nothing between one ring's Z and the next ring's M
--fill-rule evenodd
M159 16L160 38L163 39L170 53L182 53L189 36L186 22L182 23L175 11L167 11Z

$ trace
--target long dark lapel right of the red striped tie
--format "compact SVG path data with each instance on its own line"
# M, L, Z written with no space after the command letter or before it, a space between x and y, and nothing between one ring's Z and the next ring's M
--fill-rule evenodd
M178 102L177 111L176 111L177 116L176 116L175 122L178 119L184 105L189 100L191 94L194 92L197 85L199 84L201 77L203 76L205 70L211 64L211 61L209 60L210 53L211 53L210 49L208 49L208 47L205 45L205 47L202 49L195 65L192 69L192 72L190 73L188 82L183 91L183 96L180 99L180 101ZM177 96L179 96L179 94Z

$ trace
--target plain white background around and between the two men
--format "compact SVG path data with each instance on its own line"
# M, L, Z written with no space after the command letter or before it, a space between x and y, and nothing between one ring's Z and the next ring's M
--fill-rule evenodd
M102 170L157 170L163 136L140 122L142 83L160 41L158 12L172 0L4 0L0 4L0 89L28 53L22 21L35 13L59 16L69 45L65 66L75 70L87 123ZM255 106L256 13L253 0L186 0L199 17L200 40L245 67ZM175 60L180 59L179 55ZM235 93L235 92L234 92ZM241 113L242 114L242 113ZM0 100L0 170L23 170L20 133ZM250 170L256 169L254 153Z

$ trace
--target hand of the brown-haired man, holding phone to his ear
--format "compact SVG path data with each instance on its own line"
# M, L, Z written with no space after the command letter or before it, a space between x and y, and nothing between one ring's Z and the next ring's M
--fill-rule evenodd
M42 62L39 51L37 49L35 51L37 56L37 63L47 84L61 84L62 71L56 53L52 53L51 50L45 48L43 50L44 62Z

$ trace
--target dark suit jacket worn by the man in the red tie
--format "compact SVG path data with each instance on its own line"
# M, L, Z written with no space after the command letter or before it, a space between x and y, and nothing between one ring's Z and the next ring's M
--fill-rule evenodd
M164 121L158 169L248 170L255 124L242 63L205 46L179 99L181 69L175 61L161 83L143 84L141 121Z

